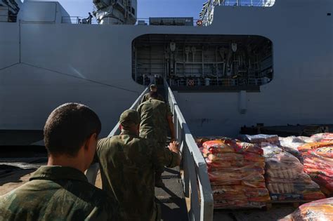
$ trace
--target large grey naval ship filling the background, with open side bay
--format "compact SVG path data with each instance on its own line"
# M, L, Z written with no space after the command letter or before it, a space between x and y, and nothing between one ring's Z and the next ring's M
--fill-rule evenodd
M1 7L0 130L42 130L81 102L106 135L152 78L196 135L333 123L331 0L207 1L199 20L138 20L134 0L93 0L90 20L57 1L2 2L20 10Z

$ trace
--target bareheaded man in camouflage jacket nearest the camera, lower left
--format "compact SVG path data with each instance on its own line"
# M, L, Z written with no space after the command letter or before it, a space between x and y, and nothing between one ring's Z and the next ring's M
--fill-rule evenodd
M100 128L89 107L69 103L55 109L44 127L48 166L0 196L0 220L119 220L117 203L84 175Z

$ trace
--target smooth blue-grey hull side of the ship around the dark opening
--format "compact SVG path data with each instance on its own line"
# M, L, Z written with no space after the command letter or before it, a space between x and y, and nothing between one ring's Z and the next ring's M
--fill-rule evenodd
M333 2L280 0L273 7L215 8L208 27L0 22L0 129L39 130L63 102L92 107L103 133L143 91L131 43L143 34L265 36L273 81L247 93L175 93L195 135L236 135L256 123L333 123ZM244 105L244 104L243 104Z

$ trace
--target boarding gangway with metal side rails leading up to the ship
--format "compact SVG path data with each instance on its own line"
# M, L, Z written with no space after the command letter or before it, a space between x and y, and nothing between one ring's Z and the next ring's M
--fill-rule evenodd
M140 105L143 95L148 93L148 88L145 88L129 109L136 109ZM162 220L211 221L214 205L207 164L166 81L162 87L159 86L159 93L164 95L174 114L176 140L181 146L182 156L181 167L165 168L162 179L166 187L155 188L156 201L162 208ZM109 137L119 133L117 123ZM86 172L89 182L93 185L96 183L98 170L98 163L95 163Z

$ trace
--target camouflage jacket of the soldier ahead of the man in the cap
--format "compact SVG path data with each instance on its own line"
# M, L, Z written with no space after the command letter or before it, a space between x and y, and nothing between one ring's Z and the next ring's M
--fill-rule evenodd
M167 116L172 116L169 105L155 99L149 99L138 106L141 116L141 138L155 139L157 142L166 142L169 131Z

